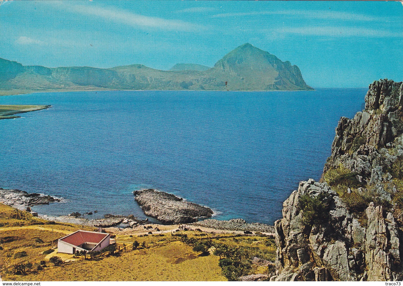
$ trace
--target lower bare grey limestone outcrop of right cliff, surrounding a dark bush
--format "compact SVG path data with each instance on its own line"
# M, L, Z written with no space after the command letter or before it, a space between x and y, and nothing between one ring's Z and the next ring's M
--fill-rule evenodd
M328 220L303 224L301 196L322 193ZM277 275L274 281L401 280L403 251L393 214L370 203L368 223L361 226L326 183L300 182L283 204L283 219L275 222Z

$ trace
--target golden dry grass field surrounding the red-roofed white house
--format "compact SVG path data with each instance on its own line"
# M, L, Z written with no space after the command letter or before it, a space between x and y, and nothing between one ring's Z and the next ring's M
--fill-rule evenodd
M0 274L5 281L226 281L220 257L213 255L215 247L228 247L247 250L249 256L274 259L274 241L263 235L241 235L233 233L206 233L180 231L167 234L139 233L118 234L116 241L120 251L116 254L102 253L87 259L83 256L59 254L64 263L55 266L49 258L56 254L48 253L57 239L83 228L73 224L53 223L32 217L0 204ZM193 241L210 241L213 245L207 252L193 251ZM137 241L138 249L133 250ZM44 253L45 251L45 253ZM46 252L48 251L48 252ZM46 267L40 267L45 261ZM25 274L14 271L15 265L32 264ZM267 273L267 266L249 263L248 274ZM30 265L29 265L30 266ZM38 268L39 266L39 268Z

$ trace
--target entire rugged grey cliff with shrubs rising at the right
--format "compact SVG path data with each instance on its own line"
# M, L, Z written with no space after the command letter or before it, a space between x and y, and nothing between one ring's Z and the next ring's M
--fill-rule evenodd
M320 182L300 182L275 222L272 281L402 280L403 83L369 86L342 117Z

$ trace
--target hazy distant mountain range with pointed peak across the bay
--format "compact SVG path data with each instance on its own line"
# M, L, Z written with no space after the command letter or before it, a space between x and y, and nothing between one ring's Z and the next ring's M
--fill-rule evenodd
M232 50L212 68L196 64L177 64L171 70L156 70L142 64L46 68L0 59L0 95L100 89L312 90L297 66L251 44Z

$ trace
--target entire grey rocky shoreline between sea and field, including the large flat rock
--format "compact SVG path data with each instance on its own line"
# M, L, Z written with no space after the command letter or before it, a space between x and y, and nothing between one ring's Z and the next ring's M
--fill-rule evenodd
M219 230L274 233L274 226L262 223L247 223L240 218L233 220L206 219L198 221L198 219L202 217L211 217L213 211L208 207L184 201L182 198L178 198L172 194L158 192L152 189L135 191L134 194L137 196L136 201L140 201L139 205L142 204L141 208L144 213L147 216L160 220L162 224L192 224L194 226ZM27 210L28 207L30 210L30 207L34 205L43 205L54 202L62 203L63 201L63 198L50 195L0 188L0 203L10 205L11 207L20 210ZM143 220L136 218L133 215L122 216L106 214L104 218L97 219L81 217L82 215L91 214L92 212L83 214L73 212L65 216L39 214L39 217L54 222L103 228L116 226L119 226L120 228L135 228L150 223L148 218Z

